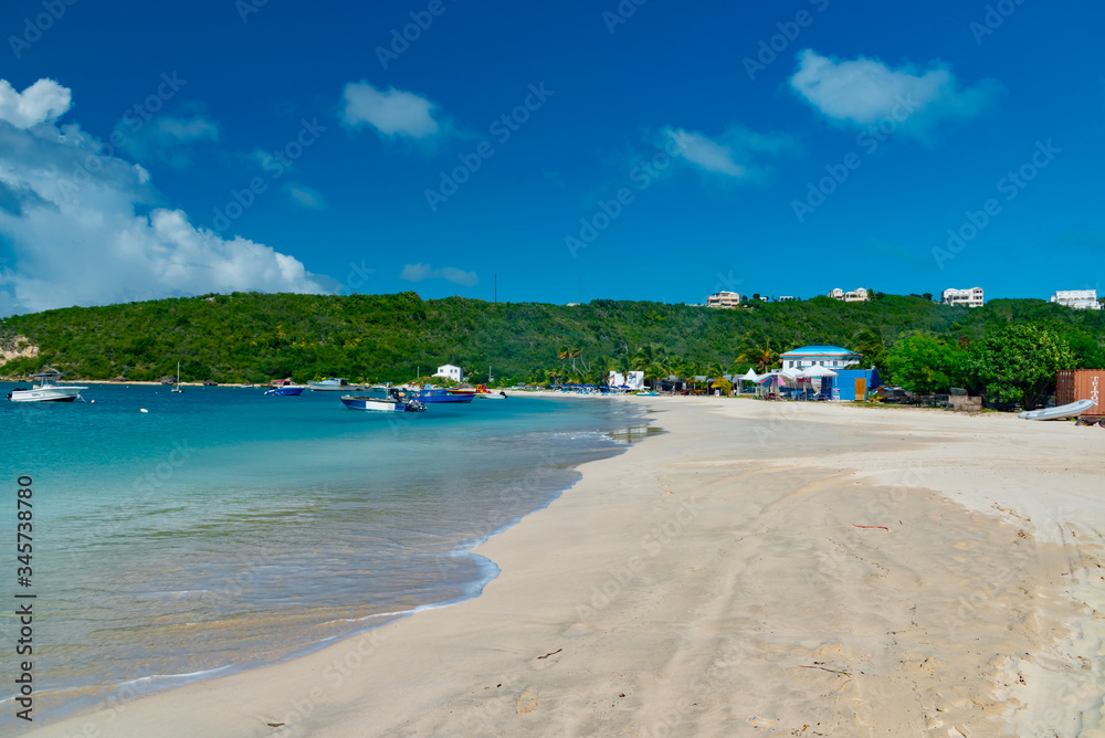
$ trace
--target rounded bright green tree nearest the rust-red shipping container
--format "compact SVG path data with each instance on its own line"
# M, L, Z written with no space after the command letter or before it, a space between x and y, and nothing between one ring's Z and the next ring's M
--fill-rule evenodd
M1077 357L1056 333L1039 325L1010 325L989 333L967 355L964 368L986 387L990 402L1040 405L1055 386L1055 372Z

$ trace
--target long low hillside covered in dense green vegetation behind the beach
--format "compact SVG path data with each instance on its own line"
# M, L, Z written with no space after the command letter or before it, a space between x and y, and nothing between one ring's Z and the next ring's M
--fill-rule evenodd
M550 372L593 381L613 367L711 375L766 368L778 352L804 344L845 346L863 352L865 363L880 363L909 336L968 346L1010 324L1034 324L1063 336L1080 366L1105 360L1105 312L1036 299L996 299L969 310L880 295L869 303L819 297L723 310L607 299L567 307L423 301L414 293L234 293L0 320L0 348L10 352L25 340L40 351L8 361L0 373L21 377L49 363L70 378L157 380L173 375L179 360L186 381L329 376L402 381L455 363L474 381L486 379L488 366L504 381L544 380ZM678 360L664 363L657 357Z

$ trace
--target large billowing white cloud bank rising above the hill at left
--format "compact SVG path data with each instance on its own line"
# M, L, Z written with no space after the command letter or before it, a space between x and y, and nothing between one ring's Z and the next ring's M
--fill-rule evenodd
M292 256L158 207L149 173L105 156L75 124L10 124L0 122L0 314L207 292L336 292Z

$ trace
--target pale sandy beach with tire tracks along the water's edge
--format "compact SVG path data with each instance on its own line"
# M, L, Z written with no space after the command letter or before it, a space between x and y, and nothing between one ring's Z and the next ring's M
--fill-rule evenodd
M1101 429L623 401L478 598L29 735L1105 736Z

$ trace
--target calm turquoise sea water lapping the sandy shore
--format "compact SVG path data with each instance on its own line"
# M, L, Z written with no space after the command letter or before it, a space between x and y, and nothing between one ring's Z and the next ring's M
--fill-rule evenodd
M601 399L383 415L347 410L336 392L91 386L84 397L0 401L4 540L17 478L34 479L33 587L15 586L12 562L4 589L38 595L43 718L119 685L271 663L473 597L497 570L465 551L643 425L631 403ZM13 610L0 620L7 643Z

